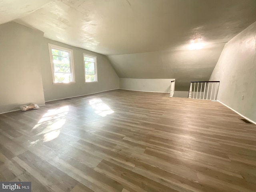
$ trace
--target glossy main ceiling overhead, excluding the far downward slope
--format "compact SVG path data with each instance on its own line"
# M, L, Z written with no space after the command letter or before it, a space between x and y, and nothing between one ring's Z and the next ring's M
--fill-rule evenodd
M46 38L107 55L173 50L197 37L227 42L256 20L256 0L0 0L0 7L0 23L17 18Z

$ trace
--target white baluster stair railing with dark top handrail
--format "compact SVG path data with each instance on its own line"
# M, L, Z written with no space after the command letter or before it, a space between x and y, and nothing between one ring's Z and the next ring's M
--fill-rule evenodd
M217 100L219 85L219 81L191 81L188 98Z

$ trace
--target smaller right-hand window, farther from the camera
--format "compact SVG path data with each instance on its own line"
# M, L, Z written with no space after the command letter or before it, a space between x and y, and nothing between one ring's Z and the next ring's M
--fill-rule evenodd
M85 82L97 82L97 58L84 54Z

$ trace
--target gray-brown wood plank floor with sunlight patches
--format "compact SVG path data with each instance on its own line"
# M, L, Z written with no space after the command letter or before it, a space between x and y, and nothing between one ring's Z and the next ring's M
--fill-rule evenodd
M113 90L0 115L0 181L32 192L255 192L256 125L218 102Z

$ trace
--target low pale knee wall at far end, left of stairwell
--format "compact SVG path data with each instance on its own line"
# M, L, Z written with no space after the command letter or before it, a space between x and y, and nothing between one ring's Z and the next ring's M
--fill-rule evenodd
M171 81L175 79L133 79L120 78L120 88L136 91L168 92L170 93ZM175 88L175 82L172 84Z

